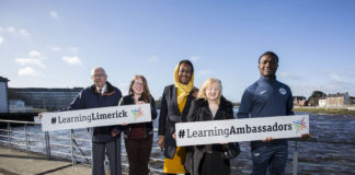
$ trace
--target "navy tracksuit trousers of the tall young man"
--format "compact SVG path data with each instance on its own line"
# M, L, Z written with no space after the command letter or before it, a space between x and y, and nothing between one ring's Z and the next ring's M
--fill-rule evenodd
M285 174L285 167L288 155L287 144L265 144L251 151L253 161L252 175L266 175L268 168L270 175Z

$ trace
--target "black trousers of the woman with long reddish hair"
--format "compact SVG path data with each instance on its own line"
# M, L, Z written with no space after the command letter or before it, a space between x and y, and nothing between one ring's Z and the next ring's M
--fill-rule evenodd
M125 145L128 154L129 175L148 175L149 158L152 147L152 135L147 139L126 139Z

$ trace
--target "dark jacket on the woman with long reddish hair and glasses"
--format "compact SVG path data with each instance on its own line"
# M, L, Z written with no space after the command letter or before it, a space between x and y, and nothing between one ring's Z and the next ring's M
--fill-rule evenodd
M151 102L150 102L151 120L154 120L158 116L156 101L152 96L150 96L150 98L151 98ZM134 105L134 104L135 104L135 98L133 95L126 95L119 102L119 105ZM129 132L130 132L133 125L135 125L135 124L127 125L124 127L125 138L129 138ZM149 135L152 135L152 129L153 129L152 121L144 122L144 127L145 127L145 133L146 133L145 138L148 138Z

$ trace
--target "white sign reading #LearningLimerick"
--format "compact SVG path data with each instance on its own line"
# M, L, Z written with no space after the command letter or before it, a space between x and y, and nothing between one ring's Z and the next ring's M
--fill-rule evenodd
M42 117L42 130L54 131L147 121L151 121L150 104L125 105L45 113Z

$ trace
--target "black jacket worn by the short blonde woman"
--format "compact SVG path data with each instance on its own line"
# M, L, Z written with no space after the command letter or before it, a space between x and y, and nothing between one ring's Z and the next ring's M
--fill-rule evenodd
M219 108L214 120L233 119L233 105L224 96L220 98ZM195 100L191 104L187 121L213 120L213 114L208 107L208 102L202 98ZM204 156L205 145L187 147L185 168L192 175L198 175L198 167ZM222 152L222 144L213 144L213 151Z

